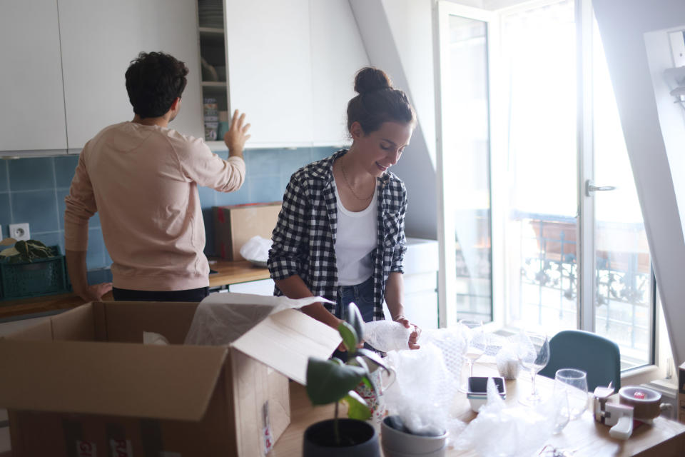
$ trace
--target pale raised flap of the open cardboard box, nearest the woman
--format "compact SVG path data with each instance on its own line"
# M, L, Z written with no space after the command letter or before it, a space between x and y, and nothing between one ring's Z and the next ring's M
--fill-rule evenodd
M231 346L305 385L308 358L329 358L340 341L334 328L286 309L265 318Z

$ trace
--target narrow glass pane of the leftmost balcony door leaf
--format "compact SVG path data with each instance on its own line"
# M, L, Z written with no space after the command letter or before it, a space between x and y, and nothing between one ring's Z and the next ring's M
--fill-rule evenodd
M440 3L441 325L492 320L488 41L493 16Z

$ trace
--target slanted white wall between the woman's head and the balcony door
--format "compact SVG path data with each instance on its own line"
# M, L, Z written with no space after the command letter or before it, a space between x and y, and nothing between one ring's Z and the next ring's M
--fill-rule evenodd
M409 198L407 236L437 239L431 0L350 0L369 61L390 74L417 112L410 146L392 172Z

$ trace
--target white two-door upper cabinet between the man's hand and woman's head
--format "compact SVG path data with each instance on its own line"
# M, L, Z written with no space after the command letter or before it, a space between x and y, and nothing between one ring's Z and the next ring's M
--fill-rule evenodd
M354 76L368 65L347 0L225 0L229 111L248 147L341 146Z

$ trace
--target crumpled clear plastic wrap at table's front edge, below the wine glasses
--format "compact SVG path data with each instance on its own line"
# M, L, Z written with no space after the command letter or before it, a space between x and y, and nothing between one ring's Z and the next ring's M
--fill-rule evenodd
M556 401L535 408L507 407L492 379L487 380L487 403L452 441L460 450L475 449L483 457L529 457L542 447L554 431Z

